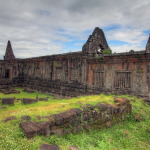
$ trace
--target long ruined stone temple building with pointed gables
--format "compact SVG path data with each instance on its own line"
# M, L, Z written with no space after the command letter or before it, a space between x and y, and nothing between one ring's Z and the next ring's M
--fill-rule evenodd
M22 86L64 96L117 93L150 96L150 38L146 50L111 52L95 28L82 51L27 59L15 58L8 41L0 60L0 88Z

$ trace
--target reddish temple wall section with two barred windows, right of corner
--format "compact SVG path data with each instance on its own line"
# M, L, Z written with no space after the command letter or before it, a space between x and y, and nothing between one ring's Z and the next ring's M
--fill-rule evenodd
M150 54L124 53L88 60L88 86L92 91L149 95Z

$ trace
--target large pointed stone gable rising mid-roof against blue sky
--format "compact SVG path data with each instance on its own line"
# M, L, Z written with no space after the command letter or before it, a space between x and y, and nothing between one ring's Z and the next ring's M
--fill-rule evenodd
M83 45L82 51L84 53L96 53L98 50L102 51L104 49L110 49L104 32L99 27L96 27L92 33L92 35L89 36L87 42Z

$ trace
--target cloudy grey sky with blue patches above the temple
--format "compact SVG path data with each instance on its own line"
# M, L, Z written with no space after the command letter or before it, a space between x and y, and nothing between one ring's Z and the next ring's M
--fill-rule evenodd
M150 0L0 0L0 59L80 51L95 27L113 52L144 50Z

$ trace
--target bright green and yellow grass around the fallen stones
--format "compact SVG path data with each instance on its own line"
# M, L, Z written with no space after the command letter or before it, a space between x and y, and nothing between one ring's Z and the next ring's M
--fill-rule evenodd
M79 108L82 104L96 105L98 102L114 104L115 95L90 95L71 99L56 99L53 96L42 93L25 93L20 90L20 94L3 95L2 97L16 98L40 98L49 97L47 102L38 102L30 105L23 105L20 101L15 101L14 106L7 106L6 109L0 109L0 150L37 150L42 143L57 144L62 150L67 150L70 145L75 145L81 150L150 150L150 133L146 130L150 125L150 108L144 104L141 99L134 96L122 95L131 101L133 105L133 116L140 114L143 121L137 122L132 117L111 128L100 130L90 130L65 137L59 136L36 136L33 139L27 139L19 123L21 116L30 115L32 120L35 116L44 116L63 112L69 108ZM0 104L1 105L1 104ZM16 116L17 120L4 123L6 117Z

